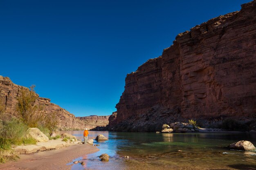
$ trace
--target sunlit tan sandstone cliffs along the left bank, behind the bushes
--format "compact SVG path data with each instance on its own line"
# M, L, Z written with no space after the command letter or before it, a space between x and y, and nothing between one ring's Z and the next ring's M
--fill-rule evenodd
M21 95L21 91L29 92L29 88L19 86L11 82L8 77L0 76L0 99L5 105L5 114L13 117L18 117L16 111L17 97ZM58 127L65 129L91 129L96 126L106 126L108 124L108 116L91 117L91 119L83 119L83 117L75 117L67 110L60 106L51 103L50 99L38 97L37 104L43 107L45 114L56 113L58 117ZM91 122L90 122L91 121ZM93 124L93 125L92 125Z

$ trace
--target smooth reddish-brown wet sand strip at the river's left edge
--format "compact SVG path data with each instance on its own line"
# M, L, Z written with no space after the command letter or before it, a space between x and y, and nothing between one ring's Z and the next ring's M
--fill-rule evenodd
M67 163L77 157L97 152L96 146L76 144L67 148L19 155L16 162L0 164L0 170L70 170Z

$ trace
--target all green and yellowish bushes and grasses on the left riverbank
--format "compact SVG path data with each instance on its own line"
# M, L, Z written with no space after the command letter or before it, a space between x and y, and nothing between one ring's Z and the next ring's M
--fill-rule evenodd
M29 93L21 91L21 95L17 98L16 110L19 118L0 120L0 163L18 158L12 150L13 146L36 144L36 140L27 135L28 128L40 129L49 139L60 137L59 135L50 137L56 130L58 119L56 113L45 116L42 106L36 103L38 95L34 88L35 86L31 86ZM0 101L0 119L4 118L4 111L4 104Z

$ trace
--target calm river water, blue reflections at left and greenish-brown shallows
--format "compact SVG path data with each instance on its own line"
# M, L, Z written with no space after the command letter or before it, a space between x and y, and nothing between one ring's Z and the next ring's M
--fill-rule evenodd
M67 131L83 139L83 131ZM89 131L90 139L98 134L108 141L97 142L99 152L74 159L85 165L72 164L72 170L256 170L256 150L227 150L225 146L240 140L256 146L256 135ZM82 147L82 146L81 146ZM110 155L101 162L99 155ZM124 158L129 156L129 159Z

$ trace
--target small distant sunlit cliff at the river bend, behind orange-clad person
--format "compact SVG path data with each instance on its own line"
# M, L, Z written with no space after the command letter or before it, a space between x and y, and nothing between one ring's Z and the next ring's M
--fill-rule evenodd
M88 129L96 128L97 126L105 127L108 125L109 116L85 116L85 117L77 117L81 121L85 123L85 127Z

